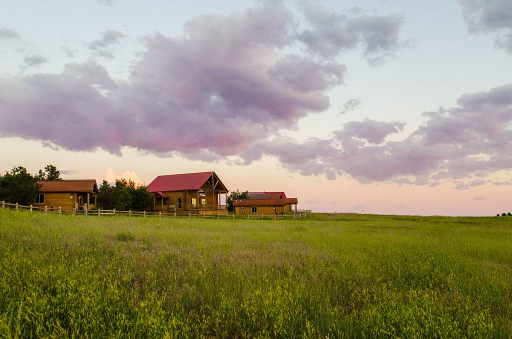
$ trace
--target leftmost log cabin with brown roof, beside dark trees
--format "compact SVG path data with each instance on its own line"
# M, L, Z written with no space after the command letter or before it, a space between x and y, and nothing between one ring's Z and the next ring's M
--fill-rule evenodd
M64 210L91 209L96 206L98 185L95 179L38 181L41 187L34 206Z

